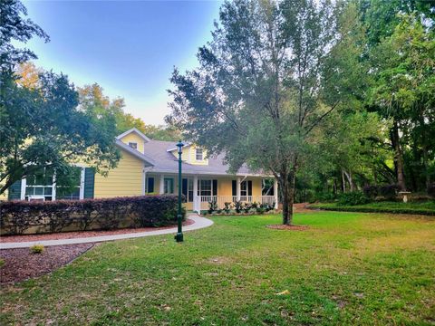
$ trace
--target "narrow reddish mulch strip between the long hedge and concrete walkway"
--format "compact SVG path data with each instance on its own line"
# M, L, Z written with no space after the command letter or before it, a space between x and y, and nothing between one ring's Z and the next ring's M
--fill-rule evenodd
M192 225L195 221L187 219L183 225ZM27 241L43 241L43 240L59 240L59 239L74 239L90 236L102 236L102 235L124 235L130 233L139 233L146 231L165 230L176 225L168 225L162 227L140 227L140 228L124 228L111 231L76 231L76 232L61 232L55 234L46 235L2 235L0 236L0 243L11 242L27 242Z

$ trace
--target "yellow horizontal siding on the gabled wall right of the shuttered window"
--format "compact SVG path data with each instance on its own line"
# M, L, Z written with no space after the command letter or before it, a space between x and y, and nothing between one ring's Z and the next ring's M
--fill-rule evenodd
M117 168L109 170L107 177L95 175L95 198L140 196L142 194L143 162L121 150Z

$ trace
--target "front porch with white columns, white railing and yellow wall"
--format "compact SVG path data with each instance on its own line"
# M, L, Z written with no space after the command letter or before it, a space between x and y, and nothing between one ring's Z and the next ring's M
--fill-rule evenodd
M177 174L147 171L144 184L147 194L178 194ZM234 207L238 201L278 206L277 182L271 177L183 175L181 192L186 209L195 212L208 210L214 201L218 209L223 209L225 203Z

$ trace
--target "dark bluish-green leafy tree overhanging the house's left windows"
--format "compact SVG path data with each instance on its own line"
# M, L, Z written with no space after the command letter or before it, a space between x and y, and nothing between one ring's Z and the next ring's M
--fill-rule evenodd
M38 84L27 89L15 83L5 92L0 194L42 168L68 175L71 163L84 161L105 173L120 158L114 119L78 110L78 94L65 75L45 72Z

